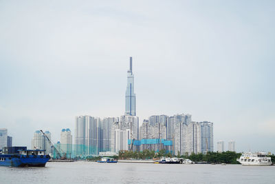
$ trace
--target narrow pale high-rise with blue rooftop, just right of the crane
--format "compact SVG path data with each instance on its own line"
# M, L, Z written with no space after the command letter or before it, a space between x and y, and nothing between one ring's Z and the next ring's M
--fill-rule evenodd
M72 141L73 141L73 137L72 137L72 133L71 130L69 130L69 128L65 129L63 128L63 130L61 130L61 150L66 154L67 158L72 158ZM61 154L63 154L63 152L61 152Z

